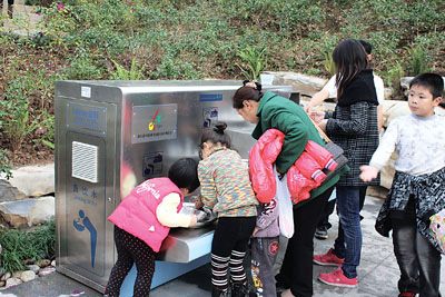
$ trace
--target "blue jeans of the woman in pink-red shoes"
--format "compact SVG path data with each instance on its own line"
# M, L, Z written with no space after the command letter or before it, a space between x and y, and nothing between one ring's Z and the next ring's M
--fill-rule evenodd
M339 224L338 237L334 244L334 254L344 258L343 273L348 278L357 277L357 266L360 264L362 227L360 227L360 192L363 187L337 186L337 208ZM362 189L362 190L360 190Z

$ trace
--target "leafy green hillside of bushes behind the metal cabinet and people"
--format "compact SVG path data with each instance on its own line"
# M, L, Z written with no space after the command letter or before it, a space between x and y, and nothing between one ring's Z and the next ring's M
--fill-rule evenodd
M21 131L40 123L37 139L21 141L51 146L53 137L37 131L50 131L53 82L131 77L132 59L132 75L142 79L241 79L261 70L330 76L334 47L359 38L374 46L374 68L387 83L413 68L445 75L444 1L30 1L40 4L40 32L17 36L0 26L3 147L20 142L11 127L1 127L19 113L10 125ZM422 53L409 52L417 46Z

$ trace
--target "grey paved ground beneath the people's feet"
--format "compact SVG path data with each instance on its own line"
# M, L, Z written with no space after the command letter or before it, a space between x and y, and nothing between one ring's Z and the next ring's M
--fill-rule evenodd
M337 288L319 283L316 278L320 271L329 271L332 267L314 266L314 296L316 297L396 297L397 279L399 276L393 245L389 238L379 236L374 230L374 222L383 200L367 197L362 215L363 250L362 263L358 267L357 288ZM315 239L315 251L326 253L334 242L337 234L338 218L330 217L334 227L329 230L329 239ZM442 269L443 275L445 269ZM152 290L152 297L200 297L210 295L210 268L208 265L196 269L182 277L167 283ZM442 294L445 295L445 279L442 278ZM60 274L39 278L37 280L0 291L0 297L99 297L99 293L67 278ZM122 296L127 297L127 296Z

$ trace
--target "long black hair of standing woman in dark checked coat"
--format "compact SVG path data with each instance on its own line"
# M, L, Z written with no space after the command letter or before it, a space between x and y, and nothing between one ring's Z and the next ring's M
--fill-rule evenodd
M337 70L335 81L337 98L340 98L346 86L367 68L367 55L358 40L348 38L335 47L333 60Z

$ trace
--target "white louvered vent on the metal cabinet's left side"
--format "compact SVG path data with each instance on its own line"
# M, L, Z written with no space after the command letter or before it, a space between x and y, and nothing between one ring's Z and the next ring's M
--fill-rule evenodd
M98 182L98 152L96 146L72 141L72 177Z

